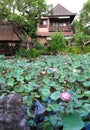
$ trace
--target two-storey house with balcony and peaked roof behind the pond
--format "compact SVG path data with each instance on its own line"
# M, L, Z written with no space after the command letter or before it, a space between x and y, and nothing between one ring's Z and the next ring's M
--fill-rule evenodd
M66 38L74 34L71 28L75 13L70 12L62 5L56 5L50 13L41 18L41 22L37 27L37 39L41 43L47 43L51 35L56 31L62 32Z

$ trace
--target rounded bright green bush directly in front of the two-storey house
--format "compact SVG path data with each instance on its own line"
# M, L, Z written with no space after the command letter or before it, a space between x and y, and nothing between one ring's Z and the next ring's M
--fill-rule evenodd
M57 53L60 50L65 49L66 40L63 34L56 32L51 36L51 41L49 44L51 51Z

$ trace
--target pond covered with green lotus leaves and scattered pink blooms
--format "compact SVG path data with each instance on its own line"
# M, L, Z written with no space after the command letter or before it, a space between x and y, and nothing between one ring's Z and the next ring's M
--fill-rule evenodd
M90 123L90 54L40 56L35 60L0 56L0 98L19 93L31 129L35 100L46 108L39 129L81 130ZM67 92L69 100L61 98Z

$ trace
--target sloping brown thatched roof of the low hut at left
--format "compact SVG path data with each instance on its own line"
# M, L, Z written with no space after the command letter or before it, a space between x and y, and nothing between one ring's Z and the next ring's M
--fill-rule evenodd
M14 30L13 24L9 22L0 23L0 42L20 42L21 39Z

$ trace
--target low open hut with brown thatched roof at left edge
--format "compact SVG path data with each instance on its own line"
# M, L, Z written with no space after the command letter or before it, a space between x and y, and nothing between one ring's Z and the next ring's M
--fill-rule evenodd
M19 49L21 38L12 23L4 20L0 23L0 54L12 55Z

